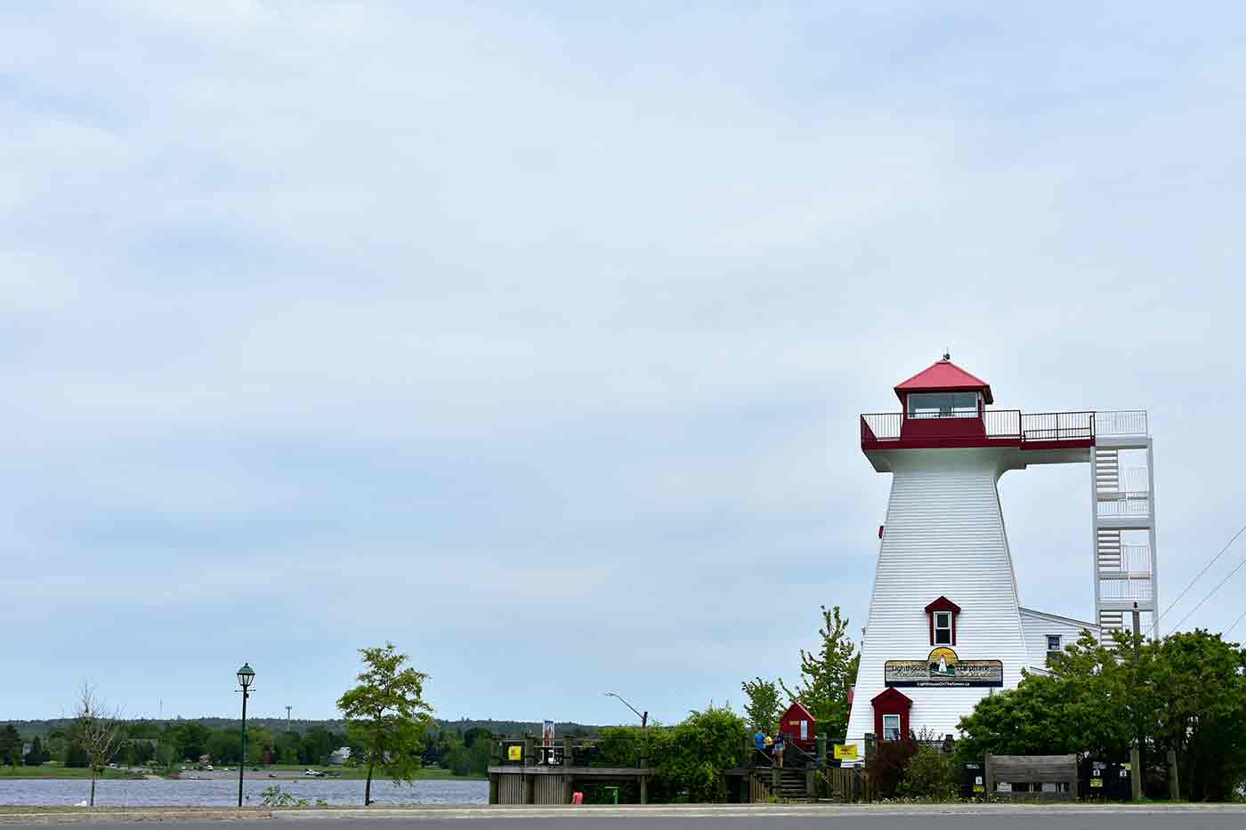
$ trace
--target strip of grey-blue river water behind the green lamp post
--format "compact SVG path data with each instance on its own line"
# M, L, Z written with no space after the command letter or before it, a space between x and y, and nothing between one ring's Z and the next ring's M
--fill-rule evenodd
M313 804L316 799L329 804L364 804L364 781L326 778L248 780L243 785L243 804L259 806L260 791L273 784ZM90 794L90 779L0 779L0 805L4 806L72 806ZM373 781L373 800L379 804L485 804L488 781L426 779L409 785ZM96 783L95 803L100 806L232 806L238 804L238 781L108 779Z

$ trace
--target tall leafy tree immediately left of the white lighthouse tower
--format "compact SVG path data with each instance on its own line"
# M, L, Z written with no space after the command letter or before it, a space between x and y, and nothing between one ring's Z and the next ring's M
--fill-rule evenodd
M841 738L847 734L849 687L856 683L861 656L854 656L849 621L840 617L839 606L831 611L822 606L822 627L817 633L822 638L817 652L800 649L800 685L794 692L779 678L779 687L817 718L817 732Z

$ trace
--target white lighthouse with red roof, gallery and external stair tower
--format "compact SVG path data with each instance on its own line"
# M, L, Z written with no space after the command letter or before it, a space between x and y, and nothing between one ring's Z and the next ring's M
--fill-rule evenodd
M892 474L846 737L862 750L867 734L877 740L923 729L956 734L957 722L982 697L1015 687L1023 668L1043 670L1047 654L1083 629L1099 634L1100 623L1128 626L1128 613L1104 614L1105 581L1129 586L1120 612L1141 598L1149 622L1155 602L1150 437L1138 434L1146 431L1145 413L988 409L994 403L989 384L948 355L895 391L902 411L861 416L861 450L875 470ZM1095 452L1096 422L1131 431L1105 441L1114 451L1146 447L1145 496L1105 495L1116 482L1104 475L1108 455ZM1096 507L1095 538L1106 530L1143 528L1140 537L1149 540L1146 551L1120 556L1106 571L1096 542L1094 622L1020 606L996 489L1008 470L1088 462L1096 505L1143 505L1129 507L1139 515L1106 520L1106 526ZM1136 491L1139 476L1125 477ZM1116 573L1113 565L1133 570Z

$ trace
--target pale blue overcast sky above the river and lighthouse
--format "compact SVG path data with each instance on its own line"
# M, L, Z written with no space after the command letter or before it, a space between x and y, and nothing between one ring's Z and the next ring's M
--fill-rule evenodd
M857 414L944 348L1150 410L1175 598L1246 522L1246 12L765 5L4 4L0 718L333 717L386 639L447 718L739 708L865 624ZM1001 496L1089 618L1085 467Z

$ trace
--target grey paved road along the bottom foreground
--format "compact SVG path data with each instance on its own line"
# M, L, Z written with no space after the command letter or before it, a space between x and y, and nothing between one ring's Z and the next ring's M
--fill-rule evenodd
M52 816L47 816L51 819ZM82 820L82 814L72 819ZM132 824L97 815L92 829L132 830ZM358 811L289 811L247 824L293 823L305 830L392 830L419 825L430 830L1242 830L1246 809L1239 808L1080 808L1080 806L954 806L946 808L685 808L685 809L430 809ZM36 826L36 823L29 823ZM39 821L39 826L47 826ZM219 830L218 821L162 820L166 829ZM5 826L12 826L5 823ZM263 825L260 825L263 826ZM270 829L275 830L275 829Z

